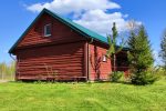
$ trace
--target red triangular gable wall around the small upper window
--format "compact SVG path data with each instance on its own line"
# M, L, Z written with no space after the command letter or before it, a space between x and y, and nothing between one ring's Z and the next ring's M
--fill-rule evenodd
M52 36L44 37L43 29L44 26L51 23L52 26ZM40 43L61 43L61 42L73 42L77 40L83 40L84 38L71 30L68 26L55 20L48 13L43 13L43 16L32 26L32 28L28 31L28 33L23 37L21 42L18 44L18 48L24 46L37 46Z

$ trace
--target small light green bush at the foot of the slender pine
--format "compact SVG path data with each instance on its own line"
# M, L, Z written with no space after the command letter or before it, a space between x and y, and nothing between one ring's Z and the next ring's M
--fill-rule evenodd
M123 74L124 74L124 72L120 72L120 71L112 72L112 73L110 74L110 80L111 80L112 82L117 82L117 81L122 78Z

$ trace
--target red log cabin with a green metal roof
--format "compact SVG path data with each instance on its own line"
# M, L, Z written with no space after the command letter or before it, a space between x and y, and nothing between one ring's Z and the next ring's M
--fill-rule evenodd
M15 56L15 80L107 80L112 61L107 39L70 19L43 9L9 50ZM127 49L116 70L127 72Z

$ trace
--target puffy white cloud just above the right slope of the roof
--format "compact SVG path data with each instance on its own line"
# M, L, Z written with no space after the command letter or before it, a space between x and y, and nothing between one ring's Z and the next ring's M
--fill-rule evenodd
M74 20L74 22L102 34L111 32L113 22L116 22L118 31L126 30L126 21L121 12L105 13L103 10L91 10L84 13L81 19Z

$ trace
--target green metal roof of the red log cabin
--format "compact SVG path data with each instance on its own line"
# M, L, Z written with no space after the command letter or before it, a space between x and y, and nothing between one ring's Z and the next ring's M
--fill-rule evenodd
M50 16L52 16L53 18L60 20L61 22L65 23L66 26L69 26L71 29L77 31L79 33L83 34L86 38L93 38L94 40L97 40L100 42L106 43L107 44L107 39L103 36L100 36L98 33L89 30L75 22L73 22L70 19L63 18L56 13L51 12L48 9L43 9L41 11L41 13L34 19L34 21L29 26L29 28L23 32L23 34L19 38L19 40L12 46L12 48L9 50L9 53L12 53L12 50L18 46L18 43L22 40L22 38L24 37L24 34L27 34L27 32L30 30L30 28L34 24L34 22L44 13L49 13Z

